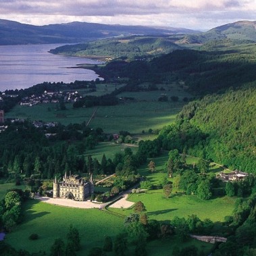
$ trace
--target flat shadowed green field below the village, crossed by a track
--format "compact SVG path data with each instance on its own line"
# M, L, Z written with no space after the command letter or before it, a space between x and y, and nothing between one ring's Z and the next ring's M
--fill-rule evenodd
M145 132L149 128L156 130L174 122L176 114L183 105L183 102L135 101L99 107L90 127L100 127L107 133L126 130L133 134L140 134L142 130ZM67 110L55 111L55 104L40 104L33 107L16 105L5 116L6 118L60 122L67 125L88 122L95 110L93 107L73 109L71 103L66 104L66 107Z

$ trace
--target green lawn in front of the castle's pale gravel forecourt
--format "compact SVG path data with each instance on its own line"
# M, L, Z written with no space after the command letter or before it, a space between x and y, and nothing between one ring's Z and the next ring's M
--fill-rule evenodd
M82 245L77 255L87 255L92 247L103 246L104 236L114 238L123 228L122 218L99 209L59 207L37 200L28 201L24 208L24 221L5 238L16 249L30 252L45 251L48 255L55 238L66 242L66 234L72 224L80 233ZM28 239L32 233L39 234L39 239Z

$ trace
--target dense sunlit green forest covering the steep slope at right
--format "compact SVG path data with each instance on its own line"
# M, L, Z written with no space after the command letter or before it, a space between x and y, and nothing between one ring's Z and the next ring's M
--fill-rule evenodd
M231 169L256 171L255 83L184 106L159 134L164 149L197 155Z

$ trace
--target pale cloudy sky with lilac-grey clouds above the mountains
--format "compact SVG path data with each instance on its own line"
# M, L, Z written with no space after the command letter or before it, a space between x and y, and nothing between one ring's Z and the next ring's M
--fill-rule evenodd
M256 20L256 0L0 0L0 18L32 25L78 21L209 30Z

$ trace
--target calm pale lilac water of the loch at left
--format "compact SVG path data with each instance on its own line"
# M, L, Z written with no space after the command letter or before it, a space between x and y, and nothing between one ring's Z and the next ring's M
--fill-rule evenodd
M95 80L92 70L71 68L81 63L99 63L93 59L48 53L59 45L0 46L0 91L28 88L41 82Z

